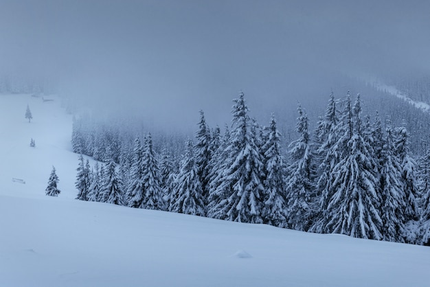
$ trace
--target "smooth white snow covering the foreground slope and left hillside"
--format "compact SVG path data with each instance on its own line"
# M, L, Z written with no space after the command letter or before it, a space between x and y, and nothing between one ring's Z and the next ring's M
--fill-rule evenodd
M430 286L425 246L74 200L71 116L54 99L0 95L0 286Z

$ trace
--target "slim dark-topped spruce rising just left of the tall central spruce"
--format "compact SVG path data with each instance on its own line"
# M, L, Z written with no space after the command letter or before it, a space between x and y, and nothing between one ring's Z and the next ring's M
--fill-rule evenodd
M210 172L210 159L212 152L210 149L211 135L210 129L208 128L205 120L205 114L200 111L200 122L199 130L196 132L196 146L195 146L195 160L199 170L199 179L203 188L203 200L205 205L207 203L207 197L209 195L209 187L207 183L209 181Z

